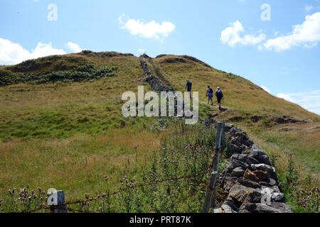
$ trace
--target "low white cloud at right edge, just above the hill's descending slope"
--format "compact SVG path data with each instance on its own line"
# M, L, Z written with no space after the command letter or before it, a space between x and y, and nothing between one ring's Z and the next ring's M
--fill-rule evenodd
M277 97L299 104L308 111L320 114L320 90L289 94L279 93Z

